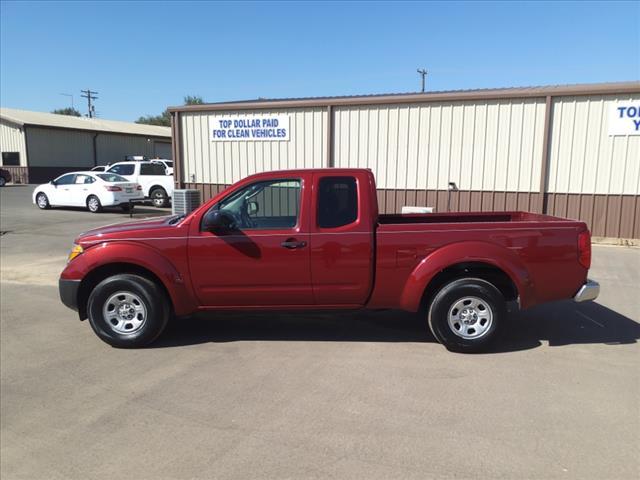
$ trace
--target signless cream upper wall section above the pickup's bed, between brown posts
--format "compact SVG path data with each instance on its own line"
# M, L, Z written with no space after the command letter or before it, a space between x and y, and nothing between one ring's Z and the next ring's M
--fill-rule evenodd
M341 107L335 166L371 168L378 188L533 192L544 99Z

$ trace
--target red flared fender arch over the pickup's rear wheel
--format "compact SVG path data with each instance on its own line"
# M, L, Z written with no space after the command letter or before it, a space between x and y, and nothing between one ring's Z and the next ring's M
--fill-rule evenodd
M495 243L460 242L437 249L418 264L404 286L400 307L411 312L417 311L422 295L433 277L447 267L466 262L487 263L499 268L511 278L518 289L523 308L533 301L529 272L516 253Z

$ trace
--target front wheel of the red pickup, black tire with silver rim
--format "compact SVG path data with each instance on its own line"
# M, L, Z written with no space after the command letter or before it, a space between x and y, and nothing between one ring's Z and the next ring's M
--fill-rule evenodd
M137 308L136 300L143 310L132 312L134 317L125 319L120 309L127 315ZM118 303L121 302L121 303ZM127 303L128 302L128 303ZM111 307L114 308L111 308ZM131 307L131 308L130 308ZM105 316L105 311L114 312L115 318ZM93 331L100 339L112 347L139 348L149 345L164 330L170 315L166 294L155 282L133 274L119 274L100 282L89 295L87 313ZM142 320L139 315L144 312ZM134 325L134 322L141 322ZM131 328L127 328L130 322ZM127 332L131 330L131 332Z

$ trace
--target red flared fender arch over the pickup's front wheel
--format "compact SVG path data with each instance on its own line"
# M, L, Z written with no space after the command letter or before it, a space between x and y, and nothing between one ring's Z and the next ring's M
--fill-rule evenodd
M152 272L169 292L176 315L188 315L197 309L184 276L155 248L137 242L104 242L87 248L67 265L61 277L82 279L96 268L113 263L129 263Z

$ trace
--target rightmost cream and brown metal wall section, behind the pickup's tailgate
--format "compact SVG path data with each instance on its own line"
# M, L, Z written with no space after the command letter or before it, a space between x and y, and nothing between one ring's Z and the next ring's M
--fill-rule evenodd
M640 136L609 136L610 106L640 95L558 97L552 105L548 208L594 235L640 238Z

